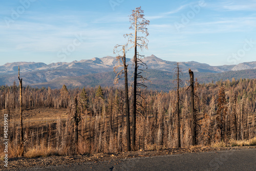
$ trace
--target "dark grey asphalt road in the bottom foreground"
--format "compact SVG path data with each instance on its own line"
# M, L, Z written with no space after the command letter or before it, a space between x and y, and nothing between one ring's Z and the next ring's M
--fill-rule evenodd
M30 170L256 170L256 149L79 163Z

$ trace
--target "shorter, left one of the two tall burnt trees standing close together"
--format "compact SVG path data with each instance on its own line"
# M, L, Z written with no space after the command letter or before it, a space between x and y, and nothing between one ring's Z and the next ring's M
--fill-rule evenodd
M120 45L115 46L114 53L119 52L117 48L120 47ZM128 77L127 77L127 67L126 65L126 58L125 58L125 46L122 46L123 55L119 55L116 57L116 59L119 61L119 65L114 67L115 73L117 73L114 84L118 83L118 80L122 78L123 76L119 77L121 74L124 74L124 91L125 91L125 114L126 114L126 141L127 141L127 151L131 151L131 133L130 133L130 109L129 109L129 96L128 96ZM120 59L122 61L122 64L120 63ZM123 69L121 71L117 71L118 67L122 67Z

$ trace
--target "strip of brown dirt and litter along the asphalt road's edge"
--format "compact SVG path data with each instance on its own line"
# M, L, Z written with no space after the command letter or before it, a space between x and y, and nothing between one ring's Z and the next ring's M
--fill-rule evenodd
M218 152L227 151L231 149L248 149L256 148L256 146L243 146L243 147L193 147L193 148L180 148L180 149L164 149L161 151L137 151L125 153L107 153L107 154L90 154L90 155L75 155L75 156L51 156L45 158L12 158L8 161L8 168L4 167L1 161L1 170L19 170L28 168L46 168L51 166L67 166L72 167L79 163L92 163L102 161L114 161L116 164L121 160L130 158L143 158L152 156L176 155L186 153L204 153L204 152Z

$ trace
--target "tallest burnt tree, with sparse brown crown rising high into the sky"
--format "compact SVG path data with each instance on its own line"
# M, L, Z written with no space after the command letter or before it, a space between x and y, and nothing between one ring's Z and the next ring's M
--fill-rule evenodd
M135 10L132 10L132 14L130 15L130 23L131 27L130 29L134 30L134 32L130 34L125 34L124 37L128 37L128 42L127 45L132 45L130 48L127 50L130 50L134 48L134 57L133 57L133 62L134 62L134 90L133 90L133 125L132 125L132 149L135 151L135 143L136 143L136 105L137 105L137 87L145 87L143 83L137 82L137 79L140 78L144 80L143 76L138 73L138 65L144 65L144 63L141 61L140 57L143 57L142 55L138 55L137 47L143 50L144 48L147 49L147 42L148 40L145 38L148 36L148 30L146 28L147 25L150 24L150 21L146 20L144 18L144 11L141 9L141 7L136 8ZM141 33L142 35L138 35Z

